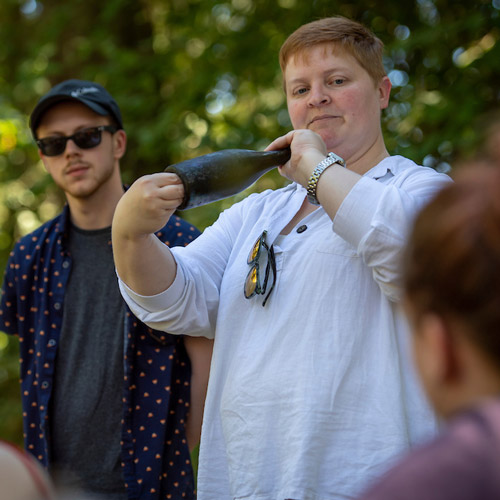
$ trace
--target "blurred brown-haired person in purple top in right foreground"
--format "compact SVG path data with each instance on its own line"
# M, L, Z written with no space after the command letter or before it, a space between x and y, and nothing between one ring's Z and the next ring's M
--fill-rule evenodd
M418 216L406 310L425 390L448 421L363 500L500 498L500 165L467 168Z

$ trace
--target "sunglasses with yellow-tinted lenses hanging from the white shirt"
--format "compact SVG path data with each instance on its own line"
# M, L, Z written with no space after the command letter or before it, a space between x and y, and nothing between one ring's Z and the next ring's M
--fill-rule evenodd
M269 274L272 270L273 272L273 282L267 292L262 305L265 306L269 295L273 291L274 285L276 284L276 259L274 256L274 247L266 243L266 235L267 231L263 231L263 233L257 238L257 241L253 245L250 253L248 254L247 264L252 266L250 271L248 271L247 278L245 280L244 294L245 298L249 299L254 295L264 295L266 293L267 284L269 281ZM264 281L261 284L260 277L260 257L263 251L267 252L267 264L266 270L264 273Z

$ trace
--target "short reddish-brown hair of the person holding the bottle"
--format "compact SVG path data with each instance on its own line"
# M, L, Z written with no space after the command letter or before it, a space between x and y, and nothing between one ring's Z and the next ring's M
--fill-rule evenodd
M342 16L326 17L302 25L283 43L279 53L285 73L290 58L316 45L332 45L352 55L370 75L375 85L386 76L382 61L384 44L362 24Z

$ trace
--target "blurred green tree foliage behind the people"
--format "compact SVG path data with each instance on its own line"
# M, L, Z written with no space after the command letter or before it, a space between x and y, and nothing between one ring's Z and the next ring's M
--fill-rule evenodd
M1 268L15 239L63 203L27 127L52 85L95 80L116 98L132 182L212 151L260 150L289 130L279 47L301 24L338 14L386 45L390 152L439 170L473 155L500 100L500 0L2 0ZM250 189L281 183L271 172ZM203 229L234 201L182 216ZM17 379L16 339L0 332L0 438L20 443Z

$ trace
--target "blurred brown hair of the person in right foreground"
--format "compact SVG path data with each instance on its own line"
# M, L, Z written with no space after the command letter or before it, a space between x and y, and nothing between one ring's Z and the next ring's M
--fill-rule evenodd
M500 367L500 167L462 170L418 215L405 260L417 316L459 321Z

